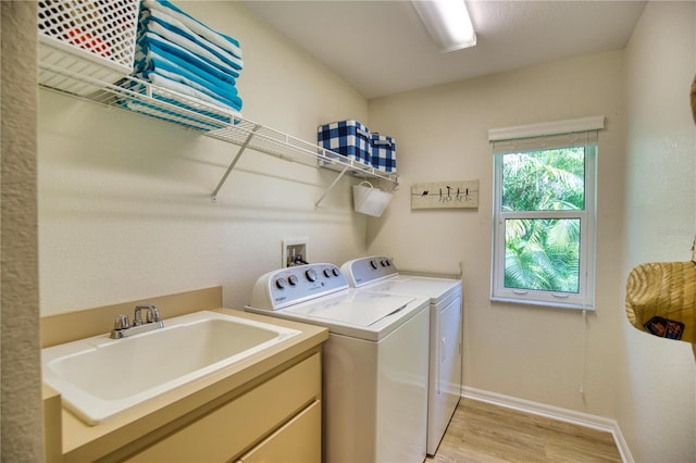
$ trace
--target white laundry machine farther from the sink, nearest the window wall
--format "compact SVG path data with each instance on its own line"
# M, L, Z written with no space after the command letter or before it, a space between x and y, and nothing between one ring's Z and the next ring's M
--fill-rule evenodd
M430 383L427 454L434 455L461 398L462 286L461 280L400 275L386 256L346 262L341 271L351 287L430 299Z

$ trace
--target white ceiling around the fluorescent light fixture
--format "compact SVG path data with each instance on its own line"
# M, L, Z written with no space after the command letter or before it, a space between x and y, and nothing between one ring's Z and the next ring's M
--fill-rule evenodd
M407 0L244 3L371 99L621 49L646 2L468 0L477 45L450 53Z

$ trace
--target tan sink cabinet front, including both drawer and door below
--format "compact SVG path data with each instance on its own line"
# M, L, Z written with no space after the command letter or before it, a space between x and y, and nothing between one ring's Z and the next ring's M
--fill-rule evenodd
M320 462L321 389L315 352L125 460Z

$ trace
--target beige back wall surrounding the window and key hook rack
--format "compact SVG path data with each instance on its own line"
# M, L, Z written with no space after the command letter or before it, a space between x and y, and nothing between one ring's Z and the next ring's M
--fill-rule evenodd
M431 272L455 273L462 262L469 387L613 416L623 317L622 57L607 52L370 101L371 128L396 137L402 184L384 220L369 223L369 250ZM607 123L597 168L596 311L585 331L580 311L489 301L487 130L592 115ZM480 180L477 210L410 210L412 183L468 179Z

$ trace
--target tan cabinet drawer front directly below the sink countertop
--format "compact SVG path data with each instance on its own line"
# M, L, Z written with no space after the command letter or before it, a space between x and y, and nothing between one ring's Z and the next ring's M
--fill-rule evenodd
M316 353L129 461L229 461L320 397L321 358Z

